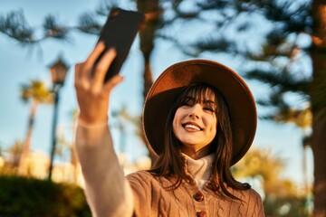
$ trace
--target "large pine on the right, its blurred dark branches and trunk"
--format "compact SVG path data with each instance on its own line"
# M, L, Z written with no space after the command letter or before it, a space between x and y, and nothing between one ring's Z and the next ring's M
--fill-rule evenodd
M179 10L189 11L186 2L190 4L181 1L184 4L179 5ZM197 21L204 20L201 24L211 28L191 42L185 43L182 37L177 40L170 36L172 33L166 34L166 38L193 56L220 52L244 62L241 71L246 78L271 87L270 96L257 101L271 111L264 118L284 121L294 114L304 117L308 110L311 112L313 214L326 215L325 2L208 0L191 4ZM291 100L293 96L295 101Z

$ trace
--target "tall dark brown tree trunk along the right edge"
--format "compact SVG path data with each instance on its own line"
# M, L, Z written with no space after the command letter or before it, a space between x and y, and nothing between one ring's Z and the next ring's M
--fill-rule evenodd
M326 1L312 3L313 216L326 216Z

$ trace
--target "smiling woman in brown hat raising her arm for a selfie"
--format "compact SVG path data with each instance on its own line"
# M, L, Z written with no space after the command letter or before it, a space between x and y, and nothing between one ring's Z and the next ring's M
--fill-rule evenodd
M120 75L103 84L115 57L100 42L75 67L80 106L76 145L85 193L94 216L264 216L262 200L230 166L251 146L254 98L234 71L215 61L169 67L149 90L143 127L158 161L124 177L108 127L110 92ZM91 76L93 73L93 76Z

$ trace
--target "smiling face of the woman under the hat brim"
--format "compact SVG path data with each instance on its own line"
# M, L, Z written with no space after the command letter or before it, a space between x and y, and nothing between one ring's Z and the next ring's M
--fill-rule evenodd
M183 100L173 119L173 132L183 144L183 153L197 153L216 137L216 99L206 94L198 101L192 97Z

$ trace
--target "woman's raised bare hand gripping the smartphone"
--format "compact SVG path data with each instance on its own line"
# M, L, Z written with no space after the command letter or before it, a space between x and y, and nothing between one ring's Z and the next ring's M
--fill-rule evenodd
M86 61L75 65L74 85L80 120L85 124L107 123L110 92L123 80L122 76L116 75L104 83L105 73L116 56L115 50L110 49L95 64L104 50L104 42L99 42Z

